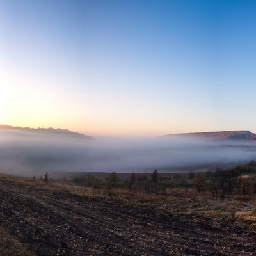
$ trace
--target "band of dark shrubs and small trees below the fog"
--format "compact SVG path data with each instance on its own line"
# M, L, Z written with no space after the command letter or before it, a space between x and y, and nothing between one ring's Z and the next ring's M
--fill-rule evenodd
M205 196L212 193L214 197L223 198L225 195L249 195L256 193L256 162L240 164L232 168L222 169L216 166L214 171L188 173L131 173L121 178L116 172L109 173L106 179L93 174L72 177L72 182L80 186L91 187L93 190L105 189L108 194L115 188L167 195L168 189L185 188L195 189L197 193Z

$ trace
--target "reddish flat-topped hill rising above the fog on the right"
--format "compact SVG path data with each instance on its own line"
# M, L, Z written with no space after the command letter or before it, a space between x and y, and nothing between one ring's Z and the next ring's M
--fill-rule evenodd
M256 140L256 134L250 131L194 132L170 134L166 136L179 136L182 138L195 138L202 140Z

